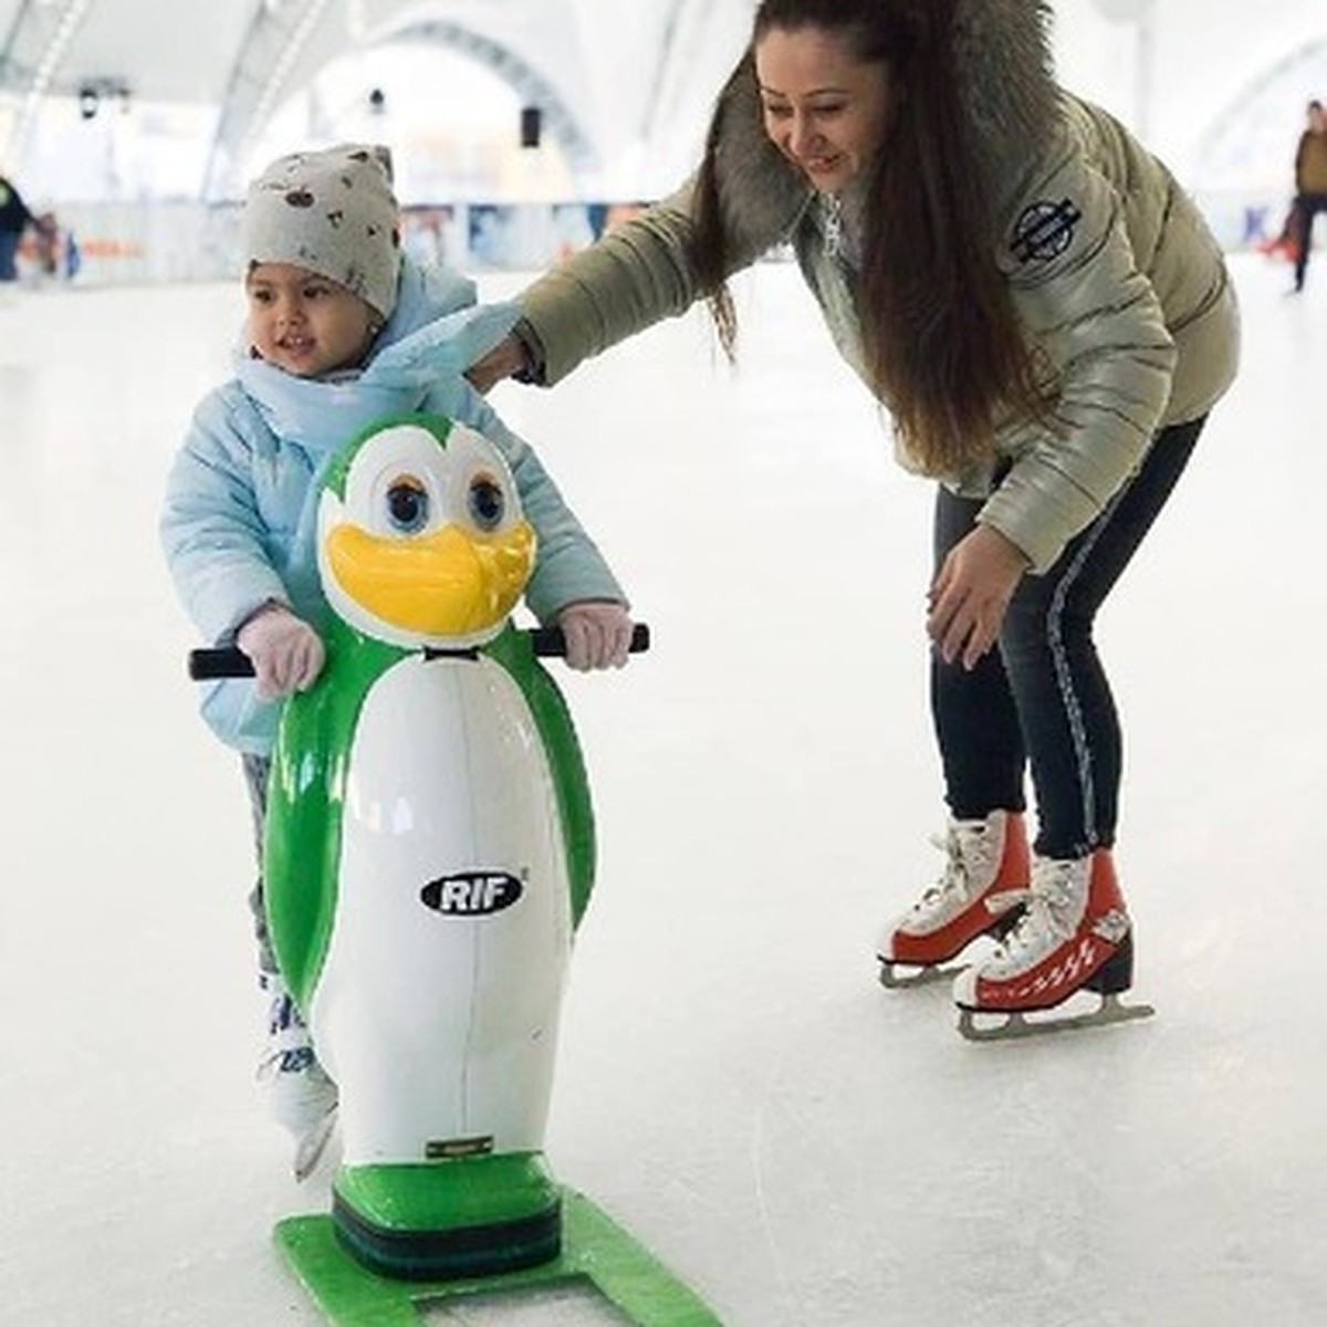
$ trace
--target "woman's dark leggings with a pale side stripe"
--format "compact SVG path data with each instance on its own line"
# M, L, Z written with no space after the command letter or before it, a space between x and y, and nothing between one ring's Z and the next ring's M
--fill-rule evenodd
M1031 767L1035 849L1084 857L1115 841L1121 736L1092 622L1184 471L1205 419L1164 429L1139 474L1044 575L1023 577L999 648L971 671L932 652L930 699L946 800L959 819L1026 807ZM936 568L973 528L979 499L936 502Z

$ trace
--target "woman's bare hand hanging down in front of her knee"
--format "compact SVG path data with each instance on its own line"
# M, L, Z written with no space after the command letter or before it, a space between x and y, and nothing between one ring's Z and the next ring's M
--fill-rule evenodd
M978 525L949 551L928 596L926 634L941 658L965 669L999 640L1005 610L1028 568L1027 555L998 529Z

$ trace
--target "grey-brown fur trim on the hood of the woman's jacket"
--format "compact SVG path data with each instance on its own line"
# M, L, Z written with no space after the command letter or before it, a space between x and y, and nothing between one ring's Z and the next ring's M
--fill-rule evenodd
M954 0L953 57L966 130L997 192L1059 119L1050 24L1046 0ZM750 50L719 93L715 125L717 176L733 234L759 235L775 218L780 230L790 227L811 190L764 131Z

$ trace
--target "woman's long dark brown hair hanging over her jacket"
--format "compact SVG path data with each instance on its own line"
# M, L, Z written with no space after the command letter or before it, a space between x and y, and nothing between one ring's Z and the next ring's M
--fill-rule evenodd
M961 102L954 0L763 0L751 48L721 94L695 188L695 260L725 350L736 344L727 289L735 259L721 206L726 96L755 80L772 29L843 33L889 77L889 123L865 179L861 333L876 395L916 464L950 475L991 455L1005 418L1047 417L1009 284L995 265L986 173ZM735 98L736 105L752 104Z

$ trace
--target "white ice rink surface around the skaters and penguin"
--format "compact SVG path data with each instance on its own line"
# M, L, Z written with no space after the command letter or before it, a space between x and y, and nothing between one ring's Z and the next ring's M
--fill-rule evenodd
M795 271L743 287L735 373L695 312L492 395L654 633L559 671L601 861L548 1156L730 1327L1327 1322L1327 259L1298 299L1233 267L1242 376L1100 621L1157 1007L1104 1031L973 1046L946 986L876 981L940 867L932 495ZM269 1230L328 1176L297 1186L260 1109L248 812L155 533L239 316L238 287L0 305L5 1327L320 1320Z

